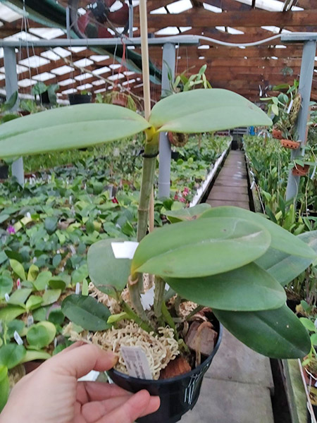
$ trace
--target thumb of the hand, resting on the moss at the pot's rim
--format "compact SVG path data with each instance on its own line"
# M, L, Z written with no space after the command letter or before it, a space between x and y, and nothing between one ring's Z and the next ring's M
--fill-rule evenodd
M103 351L97 345L80 345L77 348L70 349L64 354L57 354L44 363L47 367L54 369L63 375L80 378L85 376L91 370L104 372L111 369L118 357L110 351Z

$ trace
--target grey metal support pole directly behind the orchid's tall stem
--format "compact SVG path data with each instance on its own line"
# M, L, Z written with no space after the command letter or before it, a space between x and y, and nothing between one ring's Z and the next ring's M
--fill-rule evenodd
M170 80L168 73L171 72L172 81L175 78L175 44L163 45L162 62L162 97L170 94ZM170 158L172 152L167 133L160 134L160 163L159 163L159 198L170 197Z

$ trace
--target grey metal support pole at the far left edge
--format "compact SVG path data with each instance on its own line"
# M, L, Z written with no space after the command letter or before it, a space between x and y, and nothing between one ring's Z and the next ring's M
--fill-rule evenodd
M4 71L6 73L6 99L18 92L18 76L16 74L16 56L13 47L4 47ZM18 109L18 102L15 103L12 111ZM24 186L23 158L13 161L11 166L12 176L17 178L18 183Z

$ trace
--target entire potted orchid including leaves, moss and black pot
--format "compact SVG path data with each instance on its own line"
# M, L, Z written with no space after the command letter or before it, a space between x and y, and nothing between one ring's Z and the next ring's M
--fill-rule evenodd
M242 209L218 207L201 214L200 207L174 213L170 220L178 223L147 235L159 133L270 124L266 114L247 99L212 89L167 97L154 106L148 119L120 106L82 104L0 126L4 158L88 147L145 133L139 244L106 239L92 245L88 252L92 295L70 295L62 305L68 319L85 329L80 338L118 353L120 360L109 372L113 381L130 391L145 387L161 396L159 410L139 422L177 422L194 406L220 342L219 321L240 341L270 357L303 357L310 350L306 330L285 305L282 283L316 259L310 247L315 246L316 231L301 239ZM194 220L188 220L188 215ZM141 297L144 274L155 275L153 305ZM144 307L142 300L143 304L147 300ZM137 346L137 352L127 349L131 345ZM133 360L145 361L142 367L130 362L134 374L144 372L145 379L128 375L123 355L129 359L131 352L139 355ZM167 371L168 367L172 369ZM173 377L151 379L162 373Z

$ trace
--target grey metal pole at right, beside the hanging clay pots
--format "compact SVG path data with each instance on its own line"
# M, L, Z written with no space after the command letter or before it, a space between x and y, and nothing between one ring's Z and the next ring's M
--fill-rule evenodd
M298 139L302 142L302 147L306 144L306 128L309 116L309 102L311 98L311 84L313 82L313 66L316 56L316 41L305 41L303 47L303 57L301 73L299 76L299 92L302 94L302 106L297 119ZM303 149L292 150L291 160L304 155ZM294 176L292 169L288 175L286 200L297 197L300 176Z

